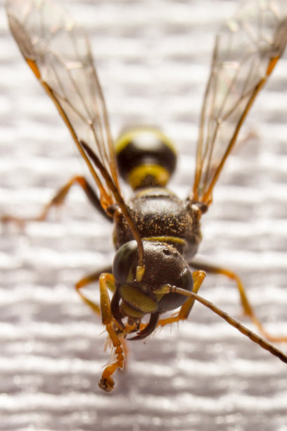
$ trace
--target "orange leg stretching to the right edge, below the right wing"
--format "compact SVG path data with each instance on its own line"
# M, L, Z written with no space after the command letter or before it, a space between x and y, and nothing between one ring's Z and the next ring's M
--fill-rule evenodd
M221 268L219 266L213 266L213 265L196 262L196 261L192 261L191 263L189 263L189 266L191 266L192 268L200 268L206 271L207 273L225 275L226 277L229 277L231 280L234 280L236 282L236 286L240 295L241 304L243 306L243 312L245 313L246 316L250 318L250 320L254 323L254 325L257 326L258 330L260 330L260 333L263 335L263 337L268 339L270 342L274 342L274 343L287 342L287 337L274 337L274 335L269 334L269 332L267 332L264 329L264 326L262 325L260 320L258 320L257 317L255 316L253 307L250 305L247 294L245 292L243 282L241 281L241 278L238 277L236 273L226 268Z

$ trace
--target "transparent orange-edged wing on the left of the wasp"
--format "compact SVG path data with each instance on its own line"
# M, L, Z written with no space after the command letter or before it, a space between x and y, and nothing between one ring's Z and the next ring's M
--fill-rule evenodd
M105 101L84 30L49 0L6 1L13 37L28 65L56 104L94 176L103 208L118 189L115 152ZM101 169L94 169L85 142Z

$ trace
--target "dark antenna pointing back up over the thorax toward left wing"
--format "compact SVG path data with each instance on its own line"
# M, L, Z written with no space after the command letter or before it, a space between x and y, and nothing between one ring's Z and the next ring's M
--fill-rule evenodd
M144 245L141 240L141 235L139 235L139 230L137 229L136 225L134 224L134 220L132 219L132 215L130 215L129 210L125 204L124 199L122 199L122 195L120 194L119 190L117 189L115 183L113 182L112 178L110 177L107 170L104 168L103 163L99 160L98 156L94 153L94 151L89 147L86 142L83 140L79 141L79 144L82 146L84 151L88 154L88 156L91 158L91 160L94 162L98 170L101 172L101 175L103 175L103 178L105 179L108 188L115 196L115 200L117 201L118 206L120 206L120 209L122 210L122 215L127 220L127 224L129 225L130 230L132 231L132 235L134 239L137 242L138 248L139 248L139 273L144 273ZM141 277L144 274L141 275Z

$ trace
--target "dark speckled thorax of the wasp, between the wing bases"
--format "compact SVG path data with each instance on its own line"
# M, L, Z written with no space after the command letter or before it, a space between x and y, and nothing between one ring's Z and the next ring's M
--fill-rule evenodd
M196 254L201 241L201 211L196 204L182 201L170 190L151 187L139 190L128 206L142 238L172 244L186 259ZM132 239L125 218L115 213L116 249Z

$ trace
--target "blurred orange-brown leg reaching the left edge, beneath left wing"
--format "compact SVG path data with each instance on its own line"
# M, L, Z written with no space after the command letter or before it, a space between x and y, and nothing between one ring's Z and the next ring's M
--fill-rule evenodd
M87 195L89 201L91 202L91 204L96 207L96 209L102 214L104 215L104 217L106 217L108 220L112 221L112 219L107 215L106 211L103 210L102 206L101 206L101 202L98 199L98 196L96 195L96 193L94 192L94 190L92 189L91 185L89 185L89 182L87 182L87 180L84 177L80 177L80 176L75 176L72 177L70 179L70 181L68 181L63 187L61 187L58 192L56 193L55 196L53 196L53 199L51 199L51 201L46 204L44 206L44 208L42 209L42 212L39 213L39 215L37 215L36 217L32 217L32 218L17 218L14 217L13 215L3 215L1 217L1 221L2 223L17 223L20 226L25 225L26 222L29 221L43 221L46 220L46 217L50 211L50 209L53 206L60 206L63 204L63 202L65 201L65 198L68 195L68 192L70 192L70 188L74 185L74 184L78 184L80 187L82 187L82 189L84 190L84 193Z

